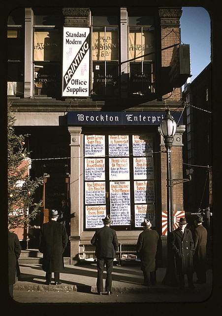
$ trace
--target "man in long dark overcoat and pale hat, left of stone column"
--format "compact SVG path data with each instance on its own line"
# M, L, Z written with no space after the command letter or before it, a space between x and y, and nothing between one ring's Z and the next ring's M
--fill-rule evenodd
M46 272L46 284L52 281L54 272L55 284L62 284L60 272L64 269L63 252L68 236L65 227L57 223L58 211L51 211L51 220L42 225L39 234L39 251L43 253L42 270Z

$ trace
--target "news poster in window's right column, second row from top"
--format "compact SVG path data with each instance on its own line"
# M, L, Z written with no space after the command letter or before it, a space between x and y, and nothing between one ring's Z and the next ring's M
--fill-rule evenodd
M134 179L154 179L153 157L133 158Z

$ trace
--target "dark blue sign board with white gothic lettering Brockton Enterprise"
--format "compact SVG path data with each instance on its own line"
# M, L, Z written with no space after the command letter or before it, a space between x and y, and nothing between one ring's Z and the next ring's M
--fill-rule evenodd
M68 125L159 125L165 112L68 112ZM172 114L178 122L181 112ZM182 120L181 120L182 121Z

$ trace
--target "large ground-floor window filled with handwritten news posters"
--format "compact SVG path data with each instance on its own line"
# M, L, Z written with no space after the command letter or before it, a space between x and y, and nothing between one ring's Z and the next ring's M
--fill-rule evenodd
M107 214L116 230L144 218L155 226L152 134L85 135L84 149L85 229L102 227Z

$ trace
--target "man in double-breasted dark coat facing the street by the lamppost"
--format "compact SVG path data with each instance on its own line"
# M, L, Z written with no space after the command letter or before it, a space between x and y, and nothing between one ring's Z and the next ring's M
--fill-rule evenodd
M188 277L188 286L193 289L193 239L191 231L186 228L187 220L180 218L179 227L172 232L172 249L175 254L176 270L179 275L180 287L185 286L184 277Z

